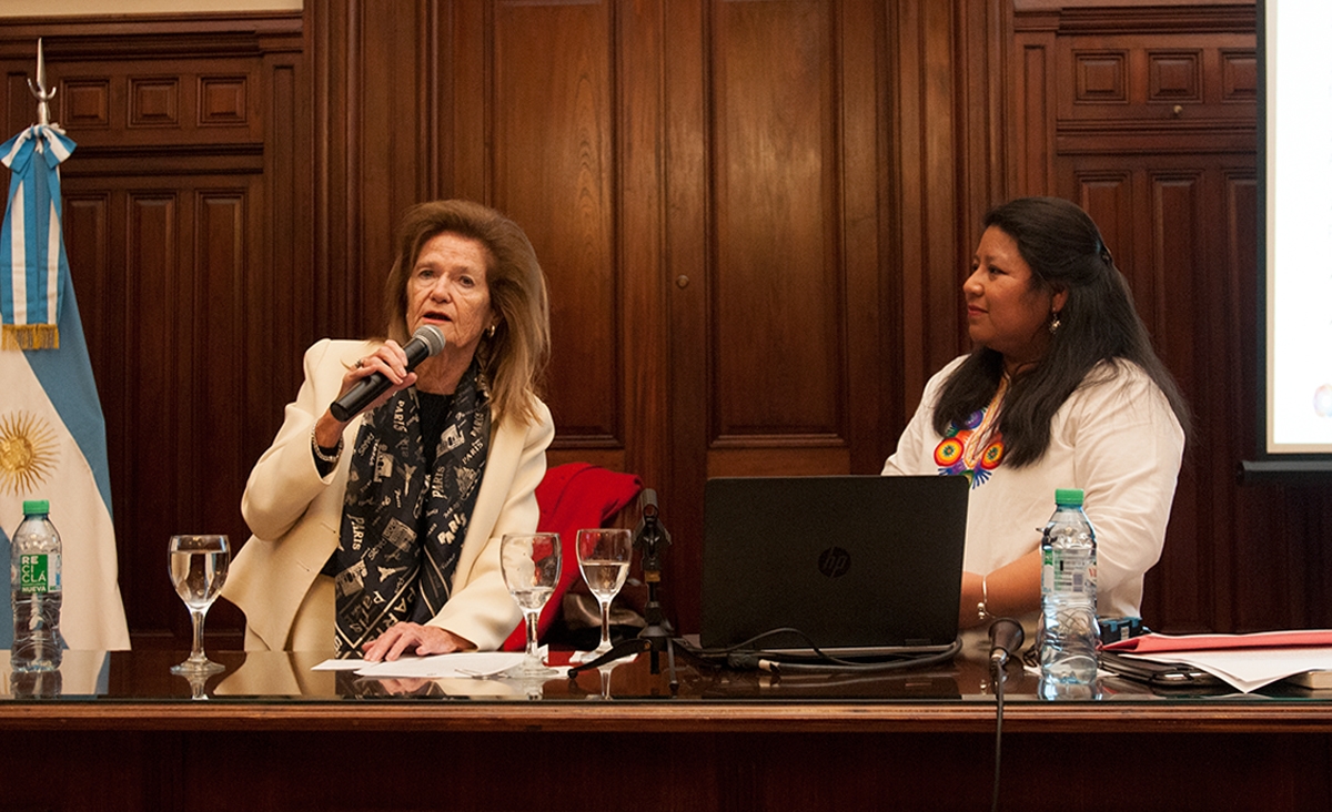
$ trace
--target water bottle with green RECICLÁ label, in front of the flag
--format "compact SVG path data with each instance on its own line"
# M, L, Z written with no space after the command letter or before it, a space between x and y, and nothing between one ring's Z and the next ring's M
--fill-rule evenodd
M9 668L16 674L60 668L60 534L47 518L45 501L24 502L23 522L9 551L9 587L13 600L13 648Z

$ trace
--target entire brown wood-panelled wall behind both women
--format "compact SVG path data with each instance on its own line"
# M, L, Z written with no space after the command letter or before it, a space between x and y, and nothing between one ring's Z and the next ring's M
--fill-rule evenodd
M1325 489L1233 479L1255 447L1252 7L1023 8L326 0L0 25L11 129L39 33L79 102L71 254L136 639L182 639L165 535L244 536L301 350L380 330L398 214L452 196L531 236L551 465L659 491L686 631L706 478L878 471L966 349L979 222L1018 193L1100 221L1197 410L1154 626L1332 624Z

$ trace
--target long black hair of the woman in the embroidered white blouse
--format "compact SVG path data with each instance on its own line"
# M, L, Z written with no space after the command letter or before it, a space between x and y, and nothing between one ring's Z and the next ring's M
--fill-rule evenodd
M1102 362L1140 366L1160 387L1187 435L1188 405L1156 357L1134 309L1128 281L1115 268L1087 212L1058 197L1022 197L992 209L984 226L998 228L1018 244L1031 268L1034 290L1067 292L1059 329L1050 335L1044 355L1008 382L998 423L1006 462L1022 467L1044 457L1055 413ZM972 350L939 393L935 431L944 434L950 423L984 409L1003 371L1000 353L984 346Z

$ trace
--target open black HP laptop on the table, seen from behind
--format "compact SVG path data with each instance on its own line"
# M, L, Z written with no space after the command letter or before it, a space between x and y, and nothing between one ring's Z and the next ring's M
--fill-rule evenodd
M962 477L710 479L699 643L838 656L947 648L967 491ZM803 636L753 640L778 628Z

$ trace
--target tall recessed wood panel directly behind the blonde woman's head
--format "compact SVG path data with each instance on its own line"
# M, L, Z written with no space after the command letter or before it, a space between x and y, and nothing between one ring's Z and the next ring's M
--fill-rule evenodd
M494 202L550 281L550 407L582 447L623 445L611 25L607 3L501 3L494 21Z

